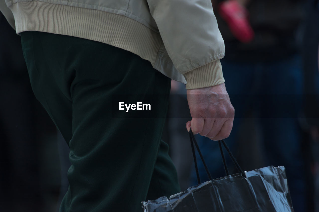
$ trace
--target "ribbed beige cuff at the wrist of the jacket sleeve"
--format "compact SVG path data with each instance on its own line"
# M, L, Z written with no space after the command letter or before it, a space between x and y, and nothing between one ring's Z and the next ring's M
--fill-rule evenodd
M206 88L225 82L220 60L207 63L184 74L186 89Z

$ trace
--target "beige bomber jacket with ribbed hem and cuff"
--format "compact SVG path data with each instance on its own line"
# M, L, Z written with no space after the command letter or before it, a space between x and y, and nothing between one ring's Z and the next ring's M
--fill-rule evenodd
M0 10L17 33L107 43L187 81L187 89L224 82L219 59L225 46L210 0L0 0Z

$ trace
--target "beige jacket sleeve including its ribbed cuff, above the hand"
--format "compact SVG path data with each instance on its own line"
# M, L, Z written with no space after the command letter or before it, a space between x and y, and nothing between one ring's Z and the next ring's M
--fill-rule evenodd
M169 57L184 74L187 89L204 88L225 80L219 59L224 40L210 0L147 0Z

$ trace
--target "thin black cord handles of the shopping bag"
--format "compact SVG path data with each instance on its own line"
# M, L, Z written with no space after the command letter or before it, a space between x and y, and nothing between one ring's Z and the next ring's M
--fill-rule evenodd
M197 167L197 160L196 160L194 144L195 144L197 152L199 153L199 156L200 156L200 158L201 158L201 160L202 160L202 162L204 164L205 170L206 170L206 172L208 174L208 178L209 178L209 180L212 180L211 173L209 172L209 170L207 168L207 165L205 163L204 157L203 157L202 153L199 150L199 146L197 144L197 141L195 139L195 136L194 136L191 128L189 129L189 139L190 139L190 145L192 147L192 152L193 152L193 158L194 158L194 163L195 163L195 170L196 170L198 184L200 184L201 182L200 182L200 178L199 178L199 172L198 172L198 167ZM232 154L232 152L230 152L230 150L229 150L228 146L226 145L225 141L222 139L221 141L218 141L218 145L219 145L219 150L220 150L221 156L223 158L223 164L224 164L226 176L229 175L229 172L228 172L228 168L227 168L227 164L226 164L226 160L225 160L225 156L224 156L224 152L223 152L221 143L224 145L226 151L228 152L230 158L233 160L233 162L234 162L236 168L238 169L238 171L241 173L241 175L243 177L246 178L246 174L242 171L242 169L239 166L239 164L238 164L237 160L235 159L234 155Z

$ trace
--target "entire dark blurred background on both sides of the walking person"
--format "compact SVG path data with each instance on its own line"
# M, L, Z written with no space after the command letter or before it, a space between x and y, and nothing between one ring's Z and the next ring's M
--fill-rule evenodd
M285 166L295 212L319 212L318 0L212 5L235 108L227 145L244 170ZM58 211L68 188L68 146L35 99L20 37L2 14L0 32L0 211ZM197 179L185 85L172 81L171 94L163 140L186 190ZM213 178L225 176L217 142L196 138ZM198 165L201 180L208 180Z

